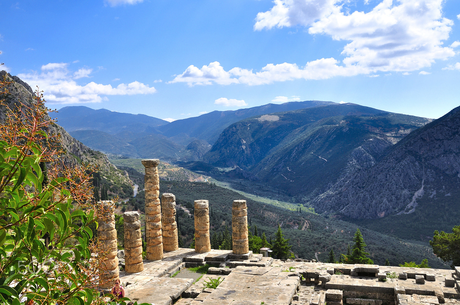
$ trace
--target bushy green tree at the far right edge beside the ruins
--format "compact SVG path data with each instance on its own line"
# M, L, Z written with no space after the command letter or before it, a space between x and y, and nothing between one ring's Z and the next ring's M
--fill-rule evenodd
M460 266L460 226L454 226L452 233L436 230L430 245L437 257L445 262L452 261L452 269Z

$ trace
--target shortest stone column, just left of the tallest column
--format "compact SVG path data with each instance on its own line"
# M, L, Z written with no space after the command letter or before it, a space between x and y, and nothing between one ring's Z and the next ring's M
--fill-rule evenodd
M125 230L125 271L127 273L137 273L144 270L139 212L125 212L123 220Z

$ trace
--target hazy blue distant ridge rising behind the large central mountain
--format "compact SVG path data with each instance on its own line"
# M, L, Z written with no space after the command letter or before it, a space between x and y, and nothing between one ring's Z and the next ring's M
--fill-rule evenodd
M303 108L316 107L321 105L334 105L334 102L304 101L287 102L283 104L266 104L258 107L244 108L238 110L213 111L199 117L173 121L167 125L157 127L164 136L173 137L185 134L213 144L225 128L235 122L241 121L255 115L274 112L290 111Z

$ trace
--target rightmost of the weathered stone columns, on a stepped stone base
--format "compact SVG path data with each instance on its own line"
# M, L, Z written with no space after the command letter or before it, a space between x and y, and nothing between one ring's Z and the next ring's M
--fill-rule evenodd
M247 254L249 252L249 240L247 238L246 200L234 200L231 212L233 254Z

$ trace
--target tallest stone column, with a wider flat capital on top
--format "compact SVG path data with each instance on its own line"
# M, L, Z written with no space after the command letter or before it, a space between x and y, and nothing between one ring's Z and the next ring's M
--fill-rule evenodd
M145 239L147 242L147 260L163 259L163 237L161 234L160 178L158 159L142 160L145 167Z

